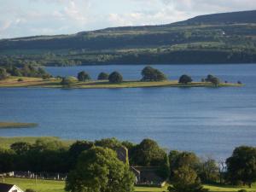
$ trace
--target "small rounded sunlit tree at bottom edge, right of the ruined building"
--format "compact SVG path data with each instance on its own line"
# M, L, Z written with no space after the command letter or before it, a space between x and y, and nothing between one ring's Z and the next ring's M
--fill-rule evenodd
M196 172L189 166L181 166L174 172L172 186L168 187L170 192L207 192L203 189Z

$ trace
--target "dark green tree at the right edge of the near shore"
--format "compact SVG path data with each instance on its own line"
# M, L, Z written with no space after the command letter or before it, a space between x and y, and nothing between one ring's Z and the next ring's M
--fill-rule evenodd
M256 148L241 146L235 148L226 160L228 180L232 184L243 183L252 186L256 181Z

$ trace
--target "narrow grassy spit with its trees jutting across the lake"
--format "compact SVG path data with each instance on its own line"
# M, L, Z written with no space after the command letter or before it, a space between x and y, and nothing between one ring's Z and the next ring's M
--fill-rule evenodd
M27 72L27 69L32 72ZM112 89L147 87L238 87L243 85L240 81L237 83L223 82L211 74L207 75L207 78L202 78L200 82L193 81L187 74L183 74L177 80L169 80L166 74L149 66L143 68L143 78L139 80L124 80L122 74L119 72L110 74L102 72L98 75L97 80L92 80L90 74L84 71L78 73L77 77L52 77L42 68L26 67L26 73L24 73L24 68L15 68L16 73L17 70L20 70L19 75L15 75L12 71L2 68L0 70L0 87Z

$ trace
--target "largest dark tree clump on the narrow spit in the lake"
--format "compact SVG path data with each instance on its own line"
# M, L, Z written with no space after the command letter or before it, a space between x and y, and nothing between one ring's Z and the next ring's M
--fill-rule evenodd
M164 73L150 66L143 68L142 75L142 81L164 81L167 79Z

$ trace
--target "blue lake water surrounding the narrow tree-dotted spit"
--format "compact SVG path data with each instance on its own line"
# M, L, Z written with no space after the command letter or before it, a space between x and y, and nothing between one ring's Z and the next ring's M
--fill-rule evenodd
M219 159L236 146L256 145L256 65L156 66L170 79L208 73L241 80L245 87L136 88L106 90L0 89L0 121L34 122L35 129L0 130L1 137L56 136L95 140L117 137L139 143L155 139L168 149ZM123 73L140 79L143 66L47 67L53 75Z

